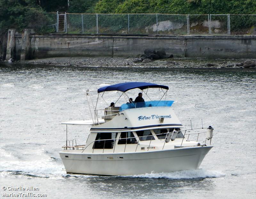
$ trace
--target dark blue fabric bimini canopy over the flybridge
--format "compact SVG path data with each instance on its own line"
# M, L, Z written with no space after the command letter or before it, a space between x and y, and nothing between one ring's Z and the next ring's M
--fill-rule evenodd
M126 92L131 89L139 88L140 90L147 89L147 88L163 88L168 90L168 86L158 85L158 84L151 84L147 82L125 82L120 84L115 84L111 86L105 86L98 89L98 93L105 92L105 91L122 91Z

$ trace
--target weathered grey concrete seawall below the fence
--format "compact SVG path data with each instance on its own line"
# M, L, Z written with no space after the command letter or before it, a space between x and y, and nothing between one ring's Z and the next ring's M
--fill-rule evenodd
M24 35L24 34L23 34ZM15 35L15 59L24 46ZM29 59L64 56L137 57L147 48L164 48L175 57L256 58L256 36L30 35Z

